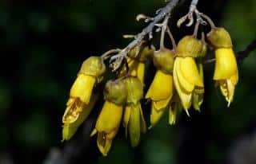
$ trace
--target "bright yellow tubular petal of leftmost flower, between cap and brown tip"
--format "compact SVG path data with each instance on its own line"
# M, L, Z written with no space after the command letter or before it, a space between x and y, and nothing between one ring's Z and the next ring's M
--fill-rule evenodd
M95 82L95 77L79 74L70 89L70 97L79 98L82 103L88 104Z

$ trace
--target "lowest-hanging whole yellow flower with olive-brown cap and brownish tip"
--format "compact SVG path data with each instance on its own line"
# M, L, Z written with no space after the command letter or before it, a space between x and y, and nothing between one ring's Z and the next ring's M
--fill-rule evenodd
M98 116L96 126L90 135L93 136L98 133L98 149L104 156L109 152L112 141L118 133L126 95L126 86L122 80L109 81L106 84L104 90L106 102Z

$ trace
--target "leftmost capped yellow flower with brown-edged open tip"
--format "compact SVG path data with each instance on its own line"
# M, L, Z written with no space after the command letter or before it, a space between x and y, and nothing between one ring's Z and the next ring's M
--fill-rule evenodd
M100 57L89 57L83 62L70 89L70 99L66 103L62 123L74 123L78 119L82 110L90 103L94 85L102 80L105 71L105 64Z

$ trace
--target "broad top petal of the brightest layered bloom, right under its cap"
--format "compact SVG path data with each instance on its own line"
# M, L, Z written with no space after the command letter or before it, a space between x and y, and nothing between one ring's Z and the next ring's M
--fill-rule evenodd
M182 58L180 68L182 71L182 75L188 82L190 82L190 84L203 87L203 82L199 75L197 64L195 63L193 57Z

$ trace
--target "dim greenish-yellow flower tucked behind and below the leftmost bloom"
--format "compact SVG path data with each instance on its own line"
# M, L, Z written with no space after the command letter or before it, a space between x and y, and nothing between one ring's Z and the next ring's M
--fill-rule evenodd
M62 129L62 141L70 140L74 133L78 130L78 127L87 119L90 111L93 109L94 104L98 98L98 95L93 94L90 103L86 105L84 109L82 109L81 114L78 116L78 119L74 121L74 123L64 123Z

